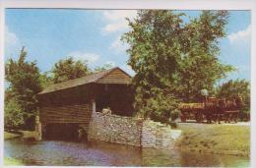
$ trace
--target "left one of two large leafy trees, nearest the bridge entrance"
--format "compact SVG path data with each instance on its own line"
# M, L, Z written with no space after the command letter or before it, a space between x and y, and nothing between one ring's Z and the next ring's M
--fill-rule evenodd
M144 117L166 110L152 108L152 102L162 94L164 88L171 90L174 73L180 55L179 29L182 20L170 11L141 10L134 22L129 21L131 30L122 37L129 45L128 64L135 71L135 109ZM172 47L169 47L172 46ZM161 93L160 93L161 92ZM171 100L170 100L171 101ZM153 110L150 110L153 109ZM159 114L158 114L159 115ZM164 115L161 115L164 116Z

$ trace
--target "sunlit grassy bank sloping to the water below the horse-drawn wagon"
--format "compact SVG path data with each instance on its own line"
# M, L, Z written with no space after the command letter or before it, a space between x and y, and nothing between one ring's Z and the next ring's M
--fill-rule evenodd
M181 149L223 154L249 155L250 127L239 125L180 123Z

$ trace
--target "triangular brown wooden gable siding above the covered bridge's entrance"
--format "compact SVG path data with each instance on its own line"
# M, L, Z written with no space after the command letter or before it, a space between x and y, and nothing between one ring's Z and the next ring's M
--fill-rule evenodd
M111 71L108 75L98 80L99 84L129 84L131 78L120 69Z

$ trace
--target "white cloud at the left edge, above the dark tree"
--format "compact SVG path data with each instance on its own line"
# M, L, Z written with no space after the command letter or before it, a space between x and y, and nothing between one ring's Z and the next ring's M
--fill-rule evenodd
M5 55L10 57L13 54L16 54L21 48L22 44L19 37L10 29L5 26Z

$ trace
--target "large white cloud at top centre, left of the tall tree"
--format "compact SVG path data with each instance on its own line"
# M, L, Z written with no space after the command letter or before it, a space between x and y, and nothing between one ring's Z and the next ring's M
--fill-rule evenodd
M103 12L103 17L107 21L103 28L104 32L114 32L128 28L126 18L134 19L137 15L136 10L114 10Z

